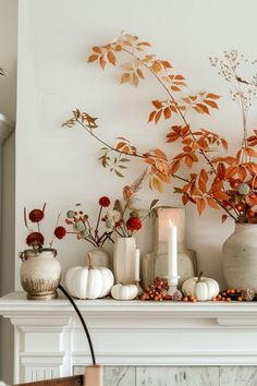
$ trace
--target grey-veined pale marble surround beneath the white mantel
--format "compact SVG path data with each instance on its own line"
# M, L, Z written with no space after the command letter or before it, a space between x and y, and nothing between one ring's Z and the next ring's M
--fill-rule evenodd
M74 374L83 373L76 366ZM257 367L105 367L105 386L257 386Z

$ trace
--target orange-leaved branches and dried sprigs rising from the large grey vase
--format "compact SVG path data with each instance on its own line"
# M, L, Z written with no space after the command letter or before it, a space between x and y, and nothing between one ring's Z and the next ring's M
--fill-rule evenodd
M123 73L121 83L133 86L145 79L148 71L164 89L167 98L151 100L154 109L150 111L148 122L158 123L161 119L170 121L173 117L181 119L181 124L168 129L166 141L169 144L180 143L181 150L169 157L160 148L139 152L124 136L118 138L115 145L110 145L96 135L97 118L78 109L73 111L73 117L63 126L73 128L81 124L90 135L105 145L100 157L101 165L109 167L117 176L123 177L121 170L126 168L126 162L132 157L142 159L149 166L149 186L163 191L163 184L178 180L181 185L174 192L181 194L183 204L188 202L196 205L198 214L207 205L213 209L222 208L222 221L231 217L237 222L257 222L257 165L253 158L257 157L257 130L248 136L246 121L249 108L256 97L257 76L246 81L240 73L240 58L236 51L225 52L224 59L211 58L211 64L218 67L220 74L233 85L232 96L241 102L243 113L244 134L242 143L235 155L228 156L225 138L207 129L194 129L186 117L188 110L199 114L210 114L218 109L220 96L213 93L200 92L196 95L185 96L182 91L186 87L185 77L175 73L171 63L158 59L156 55L148 53L150 47L147 41L140 41L137 36L121 34L112 43L95 46L88 62L98 62L102 70L107 63L117 65L120 52L128 56L128 62L122 62ZM255 63L253 63L255 64ZM242 86L246 85L246 94ZM180 97L174 97L176 93ZM172 153L176 148L172 148ZM218 152L221 152L219 154ZM114 156L113 156L114 155ZM125 156L125 157L124 157ZM205 166L199 162L204 161ZM198 167L196 167L198 166ZM194 171L192 168L196 167ZM185 170L186 168L186 177Z

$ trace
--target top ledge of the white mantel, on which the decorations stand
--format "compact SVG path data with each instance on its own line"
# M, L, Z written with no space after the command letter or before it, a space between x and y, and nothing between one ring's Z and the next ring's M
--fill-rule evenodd
M255 325L257 327L257 302L144 302L117 301L113 299L76 300L87 317L151 317L163 318L225 318L231 325ZM71 316L73 309L62 294L50 301L28 301L24 292L13 292L0 298L0 315L13 316ZM236 323L237 321L237 323ZM223 324L223 323L222 323Z

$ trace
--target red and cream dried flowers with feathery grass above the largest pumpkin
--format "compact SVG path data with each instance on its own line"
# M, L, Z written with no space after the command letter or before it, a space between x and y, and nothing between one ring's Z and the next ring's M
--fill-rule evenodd
M154 200L149 209L138 209L135 207L137 192L146 177L146 172L140 174L132 184L125 185L122 191L122 200L115 200L112 209L111 201L107 196L99 198L100 206L96 226L93 227L89 216L83 210L69 210L65 222L73 227L73 231L68 233L76 234L78 240L86 240L95 246L103 246L106 241L113 242L112 234L118 233L121 237L132 237L138 231L143 221L151 215L158 200ZM103 208L109 208L102 214ZM100 232L100 222L105 222L105 229Z

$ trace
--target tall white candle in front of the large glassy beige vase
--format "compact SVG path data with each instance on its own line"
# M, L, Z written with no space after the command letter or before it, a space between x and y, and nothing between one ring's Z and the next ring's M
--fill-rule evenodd
M169 278L178 277L178 232L171 220L168 234L168 276Z

